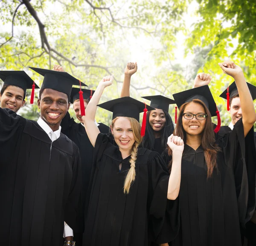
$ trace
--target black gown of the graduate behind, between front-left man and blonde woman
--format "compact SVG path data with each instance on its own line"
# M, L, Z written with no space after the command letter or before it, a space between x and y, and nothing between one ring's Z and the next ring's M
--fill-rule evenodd
M100 123L99 131L108 134L109 127ZM82 201L85 202L87 189L90 181L90 173L93 165L93 145L87 136L85 128L82 124L76 123L73 118L70 118L70 113L67 112L64 119L61 121L61 132L71 139L79 148L81 156L81 172L82 172Z

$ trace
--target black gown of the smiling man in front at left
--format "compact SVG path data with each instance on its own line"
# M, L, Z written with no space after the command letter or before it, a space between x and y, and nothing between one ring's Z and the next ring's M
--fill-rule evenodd
M61 246L64 221L76 232L81 191L77 146L52 143L35 121L0 108L0 238L5 246Z

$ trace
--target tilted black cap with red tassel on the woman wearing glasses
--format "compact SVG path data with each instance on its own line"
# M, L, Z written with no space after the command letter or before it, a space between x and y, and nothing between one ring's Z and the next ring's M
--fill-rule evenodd
M207 106L208 110L211 113L211 116L217 116L218 124L214 129L214 132L217 133L221 127L221 118L216 103L212 97L212 93L209 89L208 85L204 85L201 87L196 87L190 90L185 90L180 93L175 93L172 95L177 106L180 106L186 102L192 101L194 99L199 99L204 102Z

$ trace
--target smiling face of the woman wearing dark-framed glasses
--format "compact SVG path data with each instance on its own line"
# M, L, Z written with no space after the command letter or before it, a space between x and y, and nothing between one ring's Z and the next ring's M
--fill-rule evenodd
M191 102L186 105L183 113L186 113L188 116L192 114L199 114L198 117L202 117L200 114L206 114L204 107L201 104ZM204 120L198 120L194 116L192 119L185 119L182 116L182 126L183 129L189 135L199 135L204 131L204 127L206 124L206 118Z

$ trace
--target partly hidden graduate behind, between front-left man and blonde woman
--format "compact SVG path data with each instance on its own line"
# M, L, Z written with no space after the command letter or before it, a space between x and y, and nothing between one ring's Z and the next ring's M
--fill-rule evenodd
M94 90L81 89L83 91L84 107L86 108L90 97L93 95ZM79 102L79 88L72 88L70 102L73 103L73 108L76 113L76 118L81 123L76 123L73 118L70 117L69 112L67 112L64 119L61 121L61 132L64 133L68 138L70 138L79 148L81 156L81 174L82 174L82 192L81 198L83 204L87 196L87 189L90 181L90 173L93 165L93 145L91 145L90 140L84 128L81 108ZM109 127L102 123L95 124L98 126L101 133L108 134ZM82 233L74 234L74 240L76 240L76 245L82 245Z

